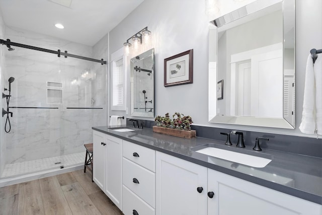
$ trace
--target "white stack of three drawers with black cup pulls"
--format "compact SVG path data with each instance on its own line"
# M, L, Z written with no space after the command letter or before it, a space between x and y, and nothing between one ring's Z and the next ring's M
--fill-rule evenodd
M123 141L125 215L155 214L155 151Z

